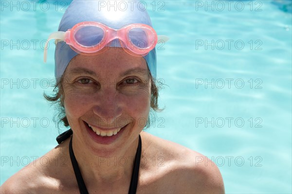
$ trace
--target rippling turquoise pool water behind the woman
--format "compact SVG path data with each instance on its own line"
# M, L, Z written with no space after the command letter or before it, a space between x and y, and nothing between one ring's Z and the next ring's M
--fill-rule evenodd
M43 40L68 2L0 1L0 184L56 146ZM145 3L170 37L157 50L165 110L147 131L216 162L226 193L291 194L291 0Z

